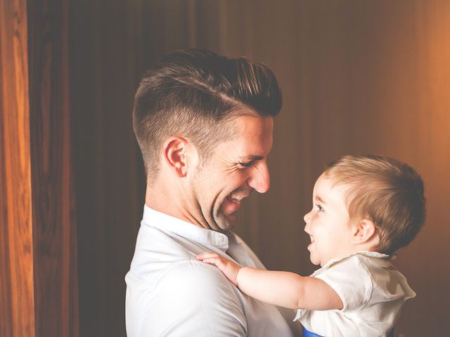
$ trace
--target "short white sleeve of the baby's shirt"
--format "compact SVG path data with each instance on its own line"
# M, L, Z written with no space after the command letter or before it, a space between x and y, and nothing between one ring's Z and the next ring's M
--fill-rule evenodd
M372 277L358 256L352 256L314 275L338 293L342 311L356 311L364 307L373 292Z

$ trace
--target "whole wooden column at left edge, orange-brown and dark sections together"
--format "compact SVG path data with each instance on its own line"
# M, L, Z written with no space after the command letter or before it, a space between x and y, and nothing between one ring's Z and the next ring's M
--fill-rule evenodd
M78 336L68 1L0 0L0 335Z

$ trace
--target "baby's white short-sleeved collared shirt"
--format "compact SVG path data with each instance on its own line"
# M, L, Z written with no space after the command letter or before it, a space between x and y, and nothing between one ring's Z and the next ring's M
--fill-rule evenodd
M401 305L416 296L389 256L361 251L330 260L311 276L322 279L340 296L342 310L297 310L298 320L320 336L386 336L399 318Z

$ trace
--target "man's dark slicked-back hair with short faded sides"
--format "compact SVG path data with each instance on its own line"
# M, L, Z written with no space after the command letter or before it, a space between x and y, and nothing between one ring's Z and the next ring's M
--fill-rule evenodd
M266 65L201 49L166 55L146 72L134 98L134 133L148 179L158 172L167 137L188 139L205 162L215 145L233 136L234 118L274 117L280 110L281 91Z

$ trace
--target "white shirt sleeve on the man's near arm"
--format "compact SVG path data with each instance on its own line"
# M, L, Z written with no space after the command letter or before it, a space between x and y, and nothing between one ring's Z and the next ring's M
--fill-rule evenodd
M215 267L186 260L158 280L141 336L246 336L236 288Z

